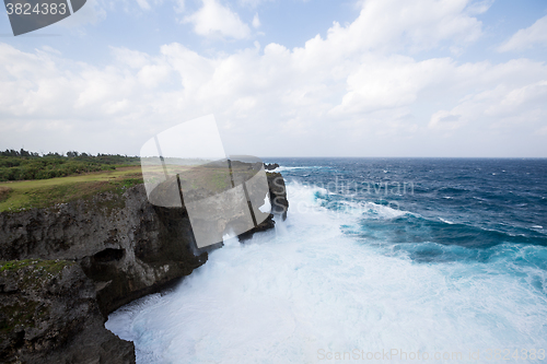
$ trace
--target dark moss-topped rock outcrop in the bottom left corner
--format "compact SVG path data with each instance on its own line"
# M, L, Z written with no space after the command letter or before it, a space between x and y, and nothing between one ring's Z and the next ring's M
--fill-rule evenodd
M95 286L66 260L0 262L0 362L135 363L135 347L106 330Z

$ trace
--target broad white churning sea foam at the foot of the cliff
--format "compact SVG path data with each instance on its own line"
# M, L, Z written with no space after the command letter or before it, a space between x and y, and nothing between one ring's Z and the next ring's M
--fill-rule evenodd
M465 361L469 351L547 348L545 295L507 273L503 250L489 263L386 256L344 235L339 226L362 214L321 207L317 191L290 185L289 218L275 231L228 242L173 292L112 314L107 328L135 341L138 363L316 363L391 349Z

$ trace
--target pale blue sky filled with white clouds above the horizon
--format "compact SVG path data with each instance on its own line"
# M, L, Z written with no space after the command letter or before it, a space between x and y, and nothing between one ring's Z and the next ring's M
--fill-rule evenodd
M228 154L547 157L545 0L88 0L14 37L0 150L138 155L213 114Z

